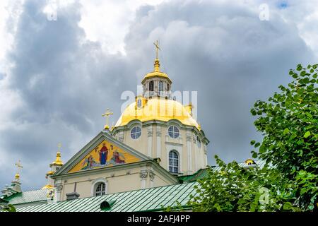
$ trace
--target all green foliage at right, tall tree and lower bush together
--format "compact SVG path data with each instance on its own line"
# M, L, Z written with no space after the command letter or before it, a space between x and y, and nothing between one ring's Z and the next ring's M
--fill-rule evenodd
M189 202L196 211L312 211L317 210L318 90L317 64L290 70L293 81L268 102L251 109L263 141L251 141L252 157L263 168L225 164L209 169ZM265 200L262 198L265 197ZM266 200L267 198L267 200Z

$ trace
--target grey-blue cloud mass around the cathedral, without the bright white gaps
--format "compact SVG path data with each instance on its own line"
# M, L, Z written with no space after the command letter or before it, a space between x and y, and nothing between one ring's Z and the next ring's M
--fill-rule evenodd
M25 162L24 189L45 184L58 142L66 161L102 129L107 107L117 120L122 91L135 91L152 69L153 40L160 39L160 62L172 88L198 90L210 164L215 154L225 161L249 157L249 141L261 138L249 109L288 83L288 69L313 58L295 25L275 13L261 21L244 4L143 6L126 35L126 56L102 52L100 43L86 40L78 27L80 4L59 11L57 21L46 19L43 6L27 1L19 18L9 81L23 106L11 114L15 126L0 131L0 151ZM1 171L0 184L13 174Z

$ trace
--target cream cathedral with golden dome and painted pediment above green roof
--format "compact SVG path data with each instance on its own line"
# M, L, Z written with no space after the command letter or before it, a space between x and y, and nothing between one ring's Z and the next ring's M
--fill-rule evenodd
M155 47L154 69L141 81L142 95L124 109L114 126L106 124L65 164L57 153L46 174L47 184L39 190L46 194L43 199L61 202L179 186L206 169L208 138L194 119L193 105L182 105L173 97L172 81L160 71L158 43ZM13 184L19 187L19 180L16 176ZM21 193L13 186L2 192L6 200Z

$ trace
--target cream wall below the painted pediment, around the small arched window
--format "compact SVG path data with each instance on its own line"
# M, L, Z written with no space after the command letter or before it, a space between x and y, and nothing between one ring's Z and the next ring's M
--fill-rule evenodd
M66 174L64 178L59 179L59 183L62 185L61 200L66 200L66 194L72 193L74 190L80 194L79 198L94 196L98 182L106 184L106 194L113 194L176 184L177 179L167 177L166 172L158 168L155 162L126 166L124 169L106 168L104 172L98 173L87 171L85 174L73 177Z

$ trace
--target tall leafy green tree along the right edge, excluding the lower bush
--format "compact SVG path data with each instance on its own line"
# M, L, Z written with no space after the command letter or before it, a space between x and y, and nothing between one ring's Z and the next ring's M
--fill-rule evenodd
M264 135L261 143L252 141L258 153L253 157L271 162L289 179L293 205L302 210L317 208L318 198L318 64L307 69L298 64L290 70L293 81L280 85L268 102L258 100L251 110L254 122ZM284 191L281 191L282 193Z

